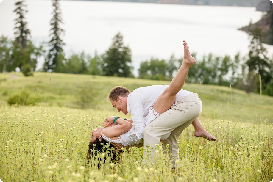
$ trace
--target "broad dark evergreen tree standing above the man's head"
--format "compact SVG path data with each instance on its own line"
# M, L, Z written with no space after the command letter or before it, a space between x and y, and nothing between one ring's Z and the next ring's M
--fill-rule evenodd
M123 36L119 32L104 55L102 65L104 75L133 77L131 62L131 49L123 45Z

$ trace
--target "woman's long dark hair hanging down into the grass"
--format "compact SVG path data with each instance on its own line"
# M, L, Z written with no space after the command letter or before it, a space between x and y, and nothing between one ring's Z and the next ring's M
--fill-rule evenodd
M87 160L89 161L91 159L91 154L97 155L99 153L105 153L105 154L107 153L107 155L110 157L110 160L112 162L113 160L116 159L116 151L109 150L111 148L114 148L114 145L112 145L111 143L108 143L104 139L102 139L102 141L99 141L99 138L96 138L94 142L89 142ZM98 168L99 168L99 165L100 163L98 163Z

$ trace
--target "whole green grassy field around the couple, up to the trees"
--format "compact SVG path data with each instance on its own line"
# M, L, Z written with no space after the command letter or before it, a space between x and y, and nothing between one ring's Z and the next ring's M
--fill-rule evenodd
M57 73L0 74L1 180L272 180L273 98L211 85L185 84L184 89L199 94L201 123L218 140L194 137L189 126L179 138L176 171L171 170L160 146L152 167L142 165L142 148L124 151L119 162L111 163L109 156L102 155L87 163L91 130L108 116L125 117L106 99L111 88L123 85L132 91L154 84L169 82ZM37 100L35 106L9 106L7 100L23 90ZM97 169L96 158L104 157L105 164Z

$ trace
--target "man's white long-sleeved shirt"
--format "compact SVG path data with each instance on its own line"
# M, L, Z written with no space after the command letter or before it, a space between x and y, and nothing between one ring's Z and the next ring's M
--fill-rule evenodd
M152 85L135 89L127 97L127 110L131 114L135 125L136 136L138 139L143 138L142 132L146 126L145 117L149 112L149 107L153 106L157 98L169 85ZM175 102L193 94L187 90L181 89L177 95Z

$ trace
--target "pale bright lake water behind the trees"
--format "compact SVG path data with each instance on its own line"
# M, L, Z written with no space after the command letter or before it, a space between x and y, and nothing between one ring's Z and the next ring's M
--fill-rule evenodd
M14 36L15 0L0 4L0 35ZM49 41L52 1L26 0L26 21L32 41ZM248 53L249 35L237 30L258 21L255 7L191 6L98 1L60 1L66 55L104 53L118 33L132 50L134 73L151 57L168 59L183 55L186 40L197 56L213 53L234 56ZM273 46L265 45L272 58ZM42 63L40 62L38 68Z

